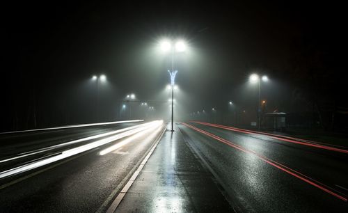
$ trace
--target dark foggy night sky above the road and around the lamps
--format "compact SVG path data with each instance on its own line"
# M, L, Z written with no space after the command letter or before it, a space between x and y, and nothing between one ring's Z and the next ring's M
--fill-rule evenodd
M339 2L339 1L338 1ZM106 74L102 120L116 119L127 93L161 100L169 83L159 39L183 38L178 56L183 114L255 108L253 72L268 111L348 111L347 16L340 3L56 1L2 5L1 131L95 120L93 74Z

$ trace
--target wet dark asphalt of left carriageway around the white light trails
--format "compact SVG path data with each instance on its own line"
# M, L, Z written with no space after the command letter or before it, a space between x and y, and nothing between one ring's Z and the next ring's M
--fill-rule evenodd
M139 123L93 127L88 131L86 129L71 129L68 132L59 130L47 134L47 137L35 134L31 137L50 141L49 144L52 145L59 143L61 139L71 141L90 136L90 134L101 134L133 125L139 125ZM128 136L79 155L41 166L33 171L1 180L0 212L104 212L109 201L122 189L134 168L150 150L158 134L157 130L152 130L145 135L139 134L137 138L133 138L130 143L122 145L121 148L106 155L100 154L111 145L132 137ZM48 139L49 135L52 135L54 142ZM26 148L21 142L25 141L25 137L30 138L21 136L19 137L21 139L18 139L17 137L17 143L14 145L22 145ZM45 143L34 141L32 147L38 148L43 144ZM4 145L4 147L9 148L10 145ZM11 149L7 150L10 152ZM1 153L3 154L2 150ZM21 178L24 180L17 182ZM12 184L6 186L9 182Z

